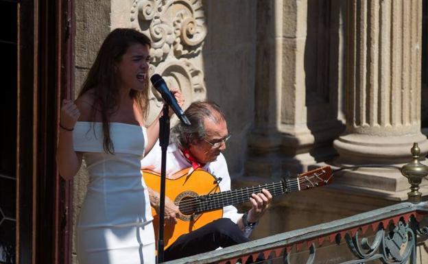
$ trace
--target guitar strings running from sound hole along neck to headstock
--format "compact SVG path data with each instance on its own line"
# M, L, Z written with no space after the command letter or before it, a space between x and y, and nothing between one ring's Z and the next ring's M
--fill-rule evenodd
M286 180L287 182L287 191L296 191L299 189L299 185L301 185L302 182L311 182L310 179L311 178L319 178L319 175L317 175L316 173L313 176L306 176L305 178L296 178L298 179L297 182L294 182L295 179L290 179L290 180ZM291 182L291 180L293 182ZM320 178L320 180L322 180ZM322 180L324 181L324 180ZM311 185L315 185L313 183L311 183ZM262 188L268 189L268 191L270 191L271 193L274 193L274 195L276 195L276 192L279 191L279 193L284 193L285 191L283 191L283 183L282 182L272 182L270 184L264 184L264 185L259 185L257 187L249 187L246 189L237 189L237 190L233 190L233 191L225 191L222 193L213 193L210 195L206 195L206 200L202 200L201 196L205 196L205 195L200 195L198 197L192 197L190 199L187 199L185 201L180 202L180 204L178 204L180 211L186 211L192 213L195 210L198 209L202 209L202 211L206 211L206 210L211 210L211 209L215 209L215 208L221 208L222 204L224 202L228 203L228 204L234 204L234 203L238 203L240 200L242 200L242 202L246 202L248 201L248 199L250 198L250 195L252 193L258 192L259 190L261 190ZM243 193L245 192L245 194ZM239 195L239 196L237 196ZM232 200L232 201L230 201ZM215 204L217 203L217 204ZM201 208L202 207L202 208ZM189 210L190 209L190 210Z

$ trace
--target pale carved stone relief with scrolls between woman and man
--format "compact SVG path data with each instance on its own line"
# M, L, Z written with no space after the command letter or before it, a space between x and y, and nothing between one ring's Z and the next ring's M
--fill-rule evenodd
M204 73L198 64L206 36L200 0L134 0L131 27L152 39L150 75L164 77L169 88L179 88L191 101L204 99ZM160 108L160 95L152 88L150 106ZM157 111L151 111L154 114Z

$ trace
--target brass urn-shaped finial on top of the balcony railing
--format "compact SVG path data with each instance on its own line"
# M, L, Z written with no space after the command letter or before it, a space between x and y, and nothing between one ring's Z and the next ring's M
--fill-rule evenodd
M422 193L419 192L419 184L428 175L428 167L419 162L420 148L418 143L413 143L410 150L413 160L401 167L401 173L409 180L410 192L407 193L409 202L418 203L422 200Z

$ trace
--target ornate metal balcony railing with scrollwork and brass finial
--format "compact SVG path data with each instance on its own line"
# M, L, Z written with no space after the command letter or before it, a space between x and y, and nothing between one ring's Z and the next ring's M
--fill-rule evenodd
M411 184L408 193L410 202L167 263L359 264L377 261L416 264L417 240L428 238L428 226L425 226L428 224L425 221L428 219L428 202L420 202L421 193L418 192L420 180L427 176L428 167L418 162L419 154L420 149L415 143L412 148L413 161L402 169ZM341 254L344 247L348 254L327 260L325 256L324 259L322 256L317 258L317 252L323 248L329 248L330 253L334 253L339 250L331 248L340 246ZM302 252L304 254L300 254ZM298 254L298 258L294 257Z

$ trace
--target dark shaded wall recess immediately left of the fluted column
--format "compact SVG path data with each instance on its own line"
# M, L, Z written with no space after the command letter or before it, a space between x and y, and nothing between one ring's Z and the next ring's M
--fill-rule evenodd
M307 127L317 162L337 155L333 140L344 132L346 1L309 0L305 45ZM341 36L342 35L342 36Z

